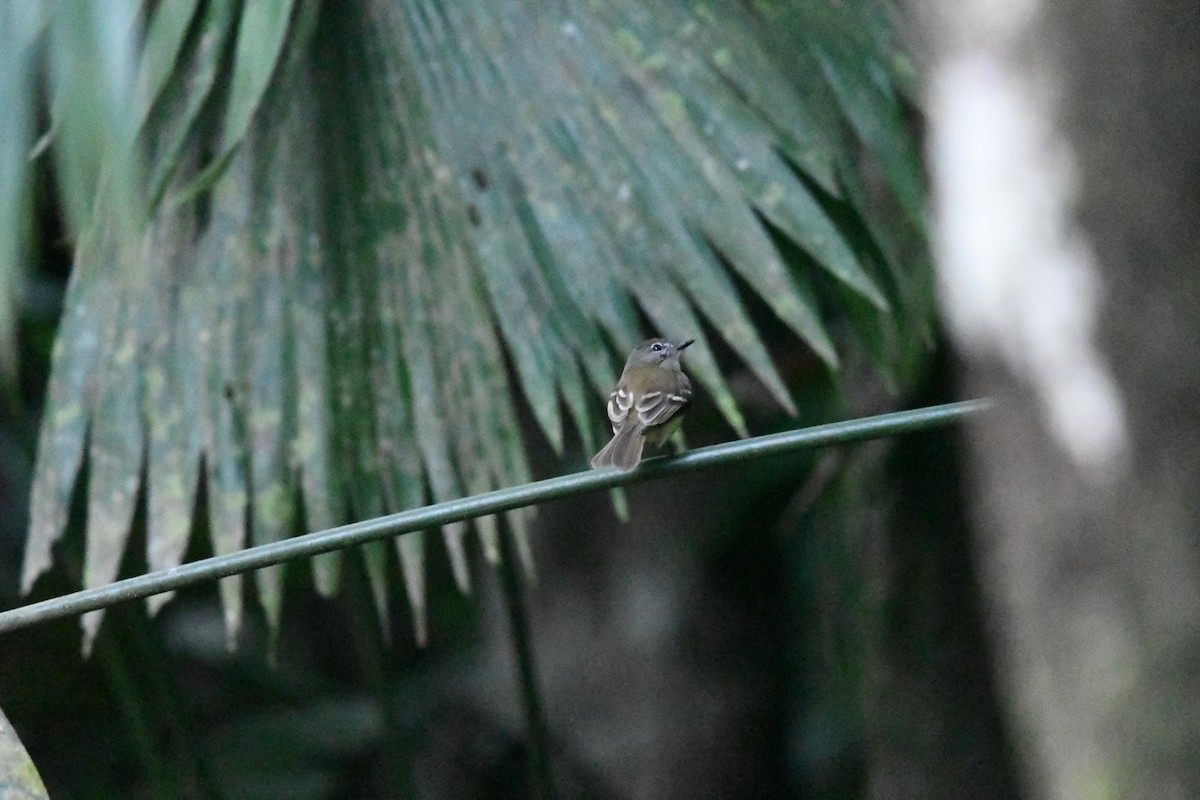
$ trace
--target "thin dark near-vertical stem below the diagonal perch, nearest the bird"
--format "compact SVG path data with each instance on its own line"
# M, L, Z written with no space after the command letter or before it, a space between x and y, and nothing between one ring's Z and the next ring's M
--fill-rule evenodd
M538 670L534 666L529 615L526 610L524 593L521 585L521 570L517 566L512 531L504 522L500 522L499 528L500 585L504 589L504 604L508 607L509 624L512 627L512 654L516 656L517 678L521 682L521 706L524 711L526 726L529 728L529 783L534 798L553 800L554 781L550 765L550 732L541 706L541 693L538 691Z

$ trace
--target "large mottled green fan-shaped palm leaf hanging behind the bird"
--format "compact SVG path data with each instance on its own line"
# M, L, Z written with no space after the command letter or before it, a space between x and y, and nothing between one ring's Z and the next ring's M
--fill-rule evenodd
M85 457L98 585L143 474L154 569L182 558L197 497L221 553L290 535L299 509L325 528L524 482L518 404L556 450L564 409L593 446L642 315L700 339L690 369L734 429L707 331L794 414L738 282L830 368L830 321L901 341L925 323L923 261L858 173L865 143L919 222L890 46L840 36L857 5L258 5L164 0L145 20L137 151L169 201L130 236L102 185L80 235L26 588ZM803 56L776 44L797 37ZM466 533L443 531L463 589ZM478 533L498 559L496 521ZM389 560L365 555L384 607ZM422 636L422 540L398 558ZM338 559L313 569L336 591ZM277 624L282 567L256 588ZM232 632L241 597L227 578Z

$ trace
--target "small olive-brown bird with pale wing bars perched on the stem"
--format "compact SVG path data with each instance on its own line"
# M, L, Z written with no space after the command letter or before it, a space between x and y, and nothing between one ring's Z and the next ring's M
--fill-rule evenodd
M628 473L642 461L646 443L661 446L679 429L691 403L691 381L679 359L692 342L649 339L629 354L608 396L612 441L592 459L594 469L616 467Z

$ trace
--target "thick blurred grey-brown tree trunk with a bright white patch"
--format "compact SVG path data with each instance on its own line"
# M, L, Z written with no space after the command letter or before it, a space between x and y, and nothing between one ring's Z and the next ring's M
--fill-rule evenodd
M947 318L1036 798L1200 796L1200 13L919 6Z

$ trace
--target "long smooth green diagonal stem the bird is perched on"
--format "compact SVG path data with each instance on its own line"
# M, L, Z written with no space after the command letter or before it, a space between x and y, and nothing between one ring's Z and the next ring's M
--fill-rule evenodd
M652 458L631 473L616 470L589 470L559 477L515 486L496 492L486 492L461 500L449 500L422 509L377 517L364 522L341 525L304 536L294 536L278 542L259 545L236 553L215 555L169 570L116 581L104 587L84 589L61 597L52 597L11 610L0 612L0 632L12 631L35 622L60 616L82 614L106 608L126 600L181 589L204 581L214 581L230 575L251 572L265 566L282 564L298 558L362 545L378 539L398 536L415 530L436 528L450 522L472 519L509 511L521 506L546 503L560 498L611 489L616 486L690 473L718 464L728 464L752 458L778 456L796 450L852 444L870 439L882 439L901 433L924 431L956 422L971 414L990 408L990 401L976 399L911 411L895 411L845 422L830 422L811 428L800 428L742 441L731 441L713 447L702 447L682 456Z

